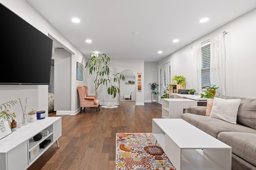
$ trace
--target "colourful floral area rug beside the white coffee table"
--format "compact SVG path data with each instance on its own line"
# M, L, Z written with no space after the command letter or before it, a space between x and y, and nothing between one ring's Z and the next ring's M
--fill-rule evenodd
M116 133L116 170L176 170L152 133Z

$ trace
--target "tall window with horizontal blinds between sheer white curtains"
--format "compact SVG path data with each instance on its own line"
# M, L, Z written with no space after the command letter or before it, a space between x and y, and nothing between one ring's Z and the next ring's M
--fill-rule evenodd
M210 41L202 45L202 87L210 86Z

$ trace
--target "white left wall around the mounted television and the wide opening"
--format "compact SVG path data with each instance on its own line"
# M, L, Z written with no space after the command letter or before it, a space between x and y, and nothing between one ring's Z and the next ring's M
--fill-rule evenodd
M78 104L77 86L86 84L76 80L76 61L85 63L85 59L80 51L76 49L65 37L63 37L52 25L50 25L34 8L25 0L0 0L4 6L12 10L25 21L36 27L45 35L49 35L54 41L58 41L63 47L72 53L71 64L71 112L77 113L80 108ZM54 37L54 38L53 38ZM56 90L56 89L55 89ZM47 85L0 85L0 103L9 100L16 100L17 97L25 100L28 97L28 109L41 109L48 115L48 86Z

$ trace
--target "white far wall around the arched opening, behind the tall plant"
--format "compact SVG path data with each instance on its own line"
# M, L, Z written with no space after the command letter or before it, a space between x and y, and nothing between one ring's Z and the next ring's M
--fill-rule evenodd
M111 56L108 56L111 59ZM138 86L136 86L136 105L144 105L144 59L111 59L110 63L108 63L108 66L110 68L110 71L113 72L119 72L121 73L123 70L132 70L135 78L135 84L138 84L138 78L137 73L140 69L142 72L142 89L140 92L138 92ZM87 75L88 68L86 68ZM89 88L89 95L95 94L94 89L94 75L88 76L88 88ZM116 84L119 86L119 84ZM119 95L119 94L118 94ZM108 91L105 85L101 85L98 88L97 91L97 97L100 100L100 105L105 104L113 104L113 105L119 105L119 96L116 98L112 98L112 96L108 95Z

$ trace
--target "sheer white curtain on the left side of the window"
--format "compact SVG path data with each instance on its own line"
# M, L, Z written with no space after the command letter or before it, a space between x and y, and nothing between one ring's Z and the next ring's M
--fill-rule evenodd
M194 77L194 88L198 94L202 93L202 45L198 44L192 47L193 50L193 77Z

